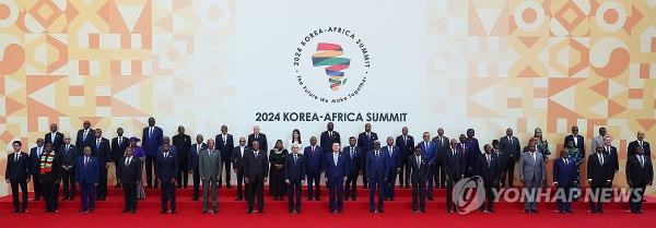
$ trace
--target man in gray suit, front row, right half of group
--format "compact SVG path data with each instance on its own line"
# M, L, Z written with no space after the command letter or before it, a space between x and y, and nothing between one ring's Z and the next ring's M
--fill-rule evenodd
M547 180L542 154L536 152L536 143L528 145L528 152L519 158L519 180L524 183L526 202L524 213L538 213L536 200L540 183Z

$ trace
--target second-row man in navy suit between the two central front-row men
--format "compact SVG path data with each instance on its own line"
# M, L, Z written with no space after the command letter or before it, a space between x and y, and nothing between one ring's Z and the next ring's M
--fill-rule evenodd
M317 146L317 137L312 136L309 139L309 146L305 147L303 152L305 155L305 172L307 175L307 201L313 199L316 201L321 200L320 192L320 179L321 172L324 171L324 152L320 146ZM314 187L313 187L314 185Z

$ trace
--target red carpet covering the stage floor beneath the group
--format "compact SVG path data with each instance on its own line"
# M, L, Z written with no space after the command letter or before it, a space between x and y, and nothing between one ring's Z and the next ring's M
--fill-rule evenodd
M344 202L344 213L328 213L328 195L323 190L321 202L303 202L303 214L289 215L286 201L265 199L266 214L246 215L246 202L236 202L236 191L219 190L219 214L201 214L201 202L192 202L191 190L177 191L176 215L161 215L160 192L149 190L148 199L139 201L139 213L121 214L122 197L120 190L109 190L106 202L96 203L96 212L79 214L79 197L73 202L60 202L60 212L44 214L44 202L30 202L26 214L12 214L11 196L0 197L0 227L653 227L656 221L656 200L647 199L646 214L634 215L625 212L628 205L609 203L605 205L605 214L587 213L588 204L574 203L574 214L554 213L554 203L539 203L539 214L526 215L522 203L499 202L494 214L468 215L445 213L445 192L436 190L436 201L426 202L427 213L423 215L410 213L411 191L397 190L394 202L385 202L384 214L368 213L368 192L359 190L356 202ZM305 196L304 196L305 199ZM48 223L45 225L44 223ZM628 226L630 225L630 226Z

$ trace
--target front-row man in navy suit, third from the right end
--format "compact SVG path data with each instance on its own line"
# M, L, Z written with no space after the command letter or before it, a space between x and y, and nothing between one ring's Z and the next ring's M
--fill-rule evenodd
M573 213L572 187L576 183L576 163L570 159L566 148L560 152L560 157L553 160L553 185L557 190L557 206L560 213Z

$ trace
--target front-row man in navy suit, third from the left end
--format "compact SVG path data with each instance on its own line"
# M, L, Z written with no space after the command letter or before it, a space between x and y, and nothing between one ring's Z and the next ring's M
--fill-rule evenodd
M95 192L98 185L101 164L91 155L91 146L84 146L82 153L84 155L78 157L75 181L80 184L80 197L82 199L80 212L89 213L95 211Z

